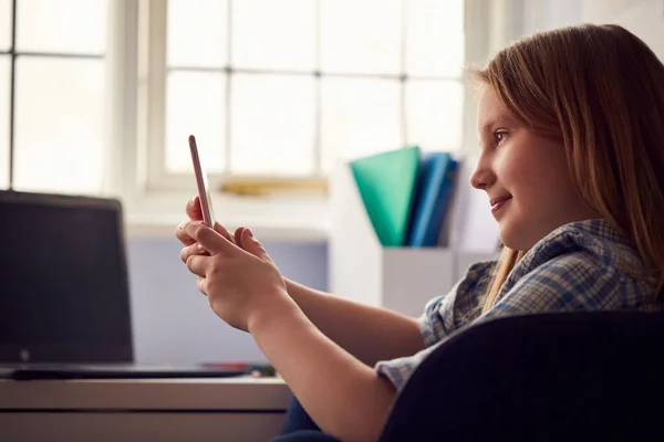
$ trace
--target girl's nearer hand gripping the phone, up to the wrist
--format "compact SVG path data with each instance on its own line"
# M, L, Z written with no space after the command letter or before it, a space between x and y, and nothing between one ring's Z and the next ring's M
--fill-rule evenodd
M177 230L180 241L191 241L180 256L198 275L198 290L230 326L250 332L252 322L293 307L283 277L249 229L239 238L246 250L200 221L186 221Z

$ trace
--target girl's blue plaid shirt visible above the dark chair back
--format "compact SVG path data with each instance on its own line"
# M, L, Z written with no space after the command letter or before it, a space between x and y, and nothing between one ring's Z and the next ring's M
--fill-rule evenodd
M456 292L427 305L421 327L428 348L411 357L381 361L376 370L401 390L419 362L452 332L468 323L466 317L477 324L513 314L620 308L620 273L614 266L605 264L600 256L577 252L556 256L530 272L515 269L517 272L512 272L510 278L518 281L510 284L508 278L505 285L510 288L499 294L498 302L481 316L479 305L475 307L476 314L469 315L468 308L479 299L477 296L467 296L464 280ZM521 271L523 275L519 275ZM486 285L479 287L486 288Z

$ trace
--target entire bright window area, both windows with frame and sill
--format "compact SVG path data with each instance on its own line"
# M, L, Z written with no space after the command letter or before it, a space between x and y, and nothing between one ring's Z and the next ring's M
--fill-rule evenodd
M486 56L486 14L483 0L0 0L0 188L116 196L129 224L170 232L195 134L229 227L320 232L340 158L474 133L460 75Z

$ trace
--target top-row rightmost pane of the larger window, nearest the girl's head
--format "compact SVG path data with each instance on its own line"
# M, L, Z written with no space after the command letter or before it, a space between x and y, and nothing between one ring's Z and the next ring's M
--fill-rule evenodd
M406 72L459 76L464 63L464 1L406 1Z

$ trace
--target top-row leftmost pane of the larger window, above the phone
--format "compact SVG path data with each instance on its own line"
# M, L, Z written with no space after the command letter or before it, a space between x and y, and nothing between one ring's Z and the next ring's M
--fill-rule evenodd
M228 53L227 0L168 0L167 63L221 67Z

